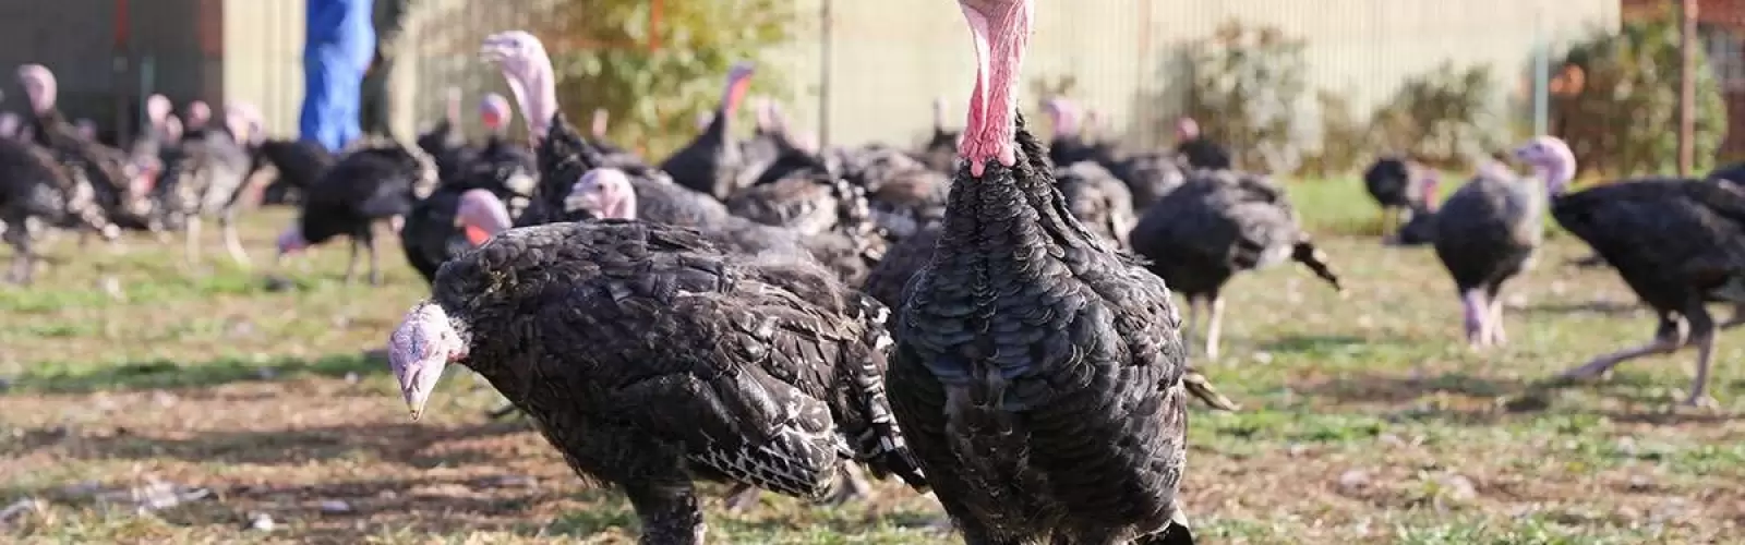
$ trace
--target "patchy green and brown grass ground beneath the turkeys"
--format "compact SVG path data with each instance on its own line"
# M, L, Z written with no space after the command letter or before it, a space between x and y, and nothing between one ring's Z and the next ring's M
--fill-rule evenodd
M1745 535L1745 344L1724 337L1719 412L1675 409L1693 353L1611 381L1530 384L1625 344L1653 318L1609 269L1555 238L1506 292L1513 344L1459 342L1459 307L1426 248L1382 248L1356 182L1295 185L1347 300L1305 271L1239 278L1225 356L1201 362L1244 404L1195 409L1190 515L1208 543L1724 543ZM284 210L246 222L270 260ZM211 245L216 248L216 245ZM70 238L31 288L0 288L0 522L17 543L630 543L628 505L579 482L525 424L487 423L468 374L410 423L379 349L424 290L386 246L386 286L339 283L346 248L263 271L185 267L180 245ZM110 281L112 279L112 281ZM119 293L106 290L119 285ZM1515 404L1537 400L1541 407ZM147 480L213 498L136 514L89 489ZM719 543L953 543L932 500L881 484L818 508L764 494ZM3 505L0 505L3 508ZM250 521L270 517L272 529Z

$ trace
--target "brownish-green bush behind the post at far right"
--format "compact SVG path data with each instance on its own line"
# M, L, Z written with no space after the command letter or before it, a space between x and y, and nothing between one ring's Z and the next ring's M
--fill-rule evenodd
M1712 168L1728 112L1701 49L1696 51L1696 171ZM1625 24L1574 44L1564 63L1581 68L1576 93L1551 96L1551 133L1569 141L1584 173L1675 173L1679 161L1677 19Z

